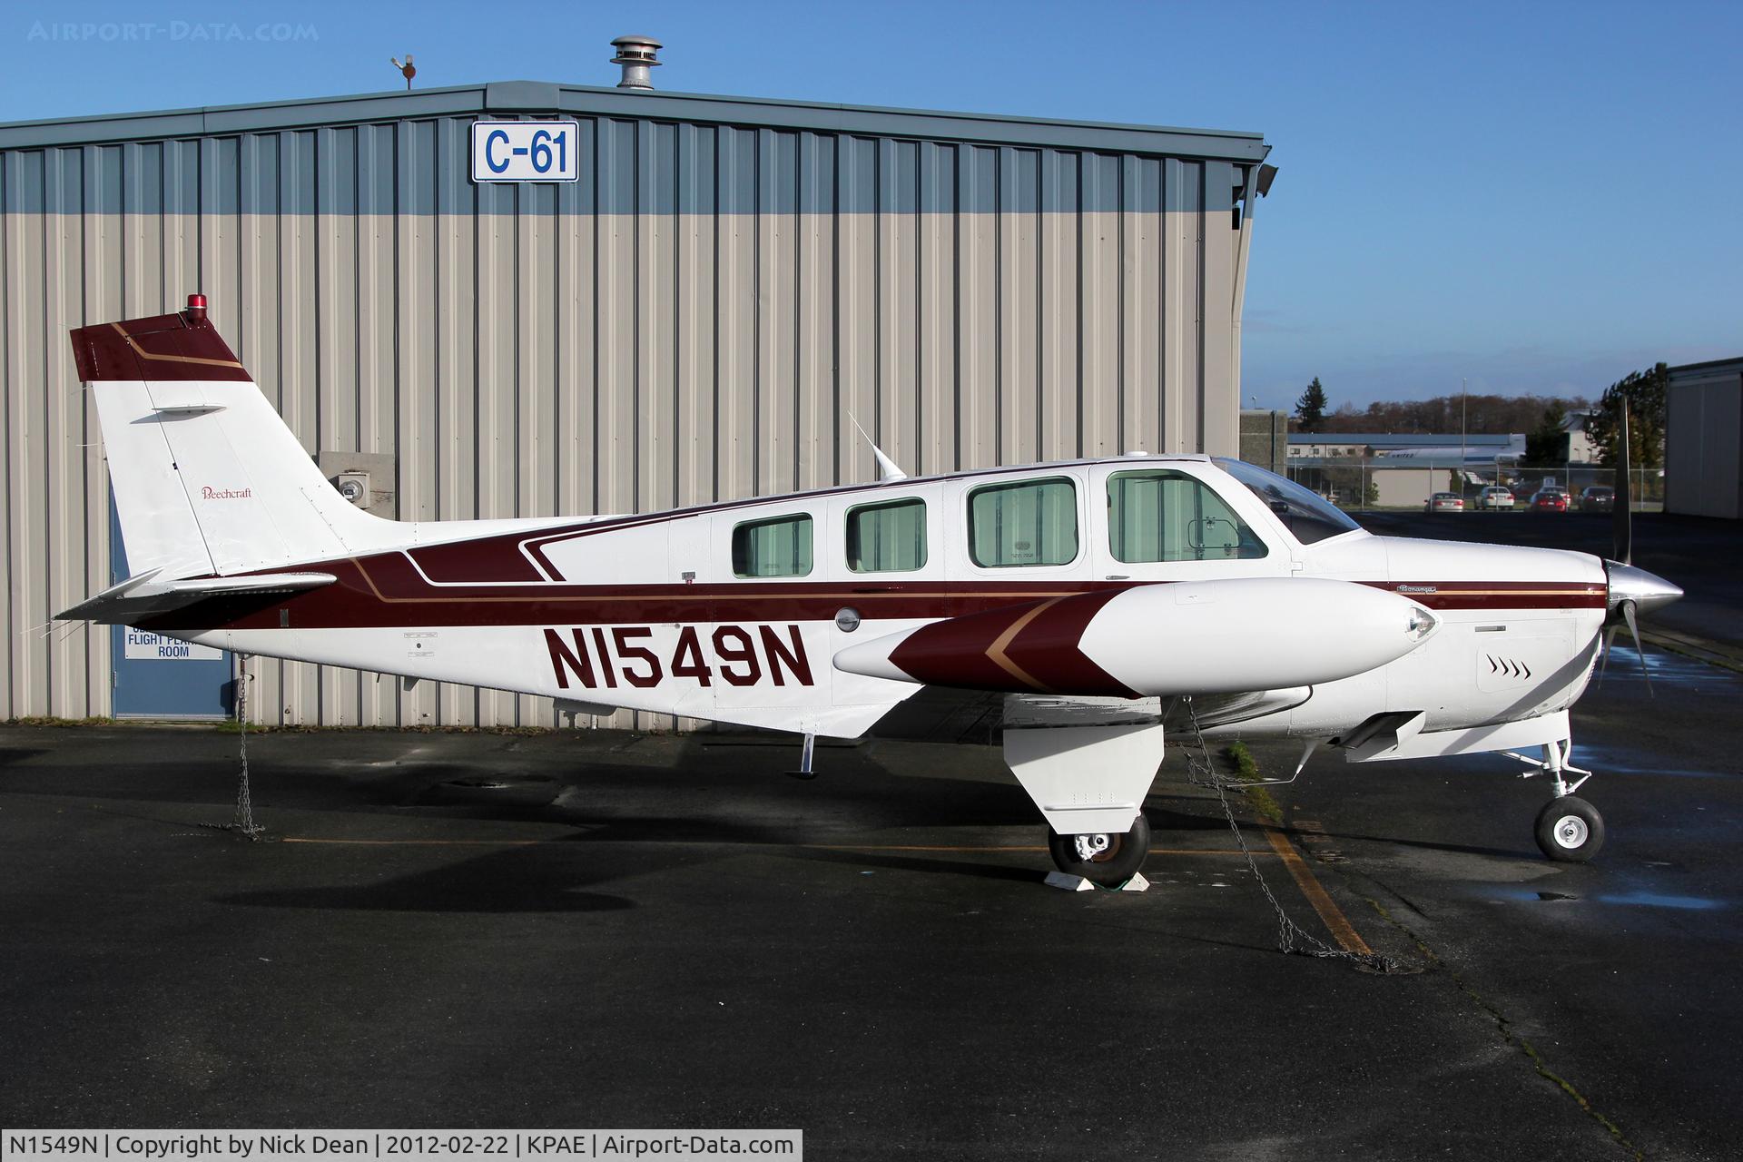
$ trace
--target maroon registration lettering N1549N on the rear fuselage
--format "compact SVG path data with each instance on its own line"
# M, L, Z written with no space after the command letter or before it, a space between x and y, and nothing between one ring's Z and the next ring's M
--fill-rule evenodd
M661 634L664 631L664 634ZM716 625L711 631L680 625L671 645L659 648L669 625L573 625L546 629L546 650L558 690L579 681L587 690L636 686L652 690L668 678L713 686L755 686L767 678L776 686L814 686L810 659L798 625ZM706 643L706 646L704 646Z

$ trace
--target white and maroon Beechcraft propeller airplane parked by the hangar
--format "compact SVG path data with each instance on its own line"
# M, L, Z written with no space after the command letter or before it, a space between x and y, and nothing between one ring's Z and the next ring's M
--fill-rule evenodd
M875 484L675 512L383 521L322 479L204 296L71 341L136 571L61 618L791 730L807 768L810 737L955 692L997 707L1060 869L1102 885L1142 864L1180 728L1295 739L1302 763L1504 751L1551 777L1543 850L1590 859L1569 707L1600 638L1682 596L1581 552L1373 537L1185 455L908 479L878 453Z

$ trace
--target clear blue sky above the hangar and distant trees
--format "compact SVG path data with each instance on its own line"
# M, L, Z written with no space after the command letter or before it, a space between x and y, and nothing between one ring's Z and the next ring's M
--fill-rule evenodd
M631 31L664 89L1262 131L1264 406L1743 354L1740 3L26 2L0 118L390 89L408 51L418 85L614 84Z

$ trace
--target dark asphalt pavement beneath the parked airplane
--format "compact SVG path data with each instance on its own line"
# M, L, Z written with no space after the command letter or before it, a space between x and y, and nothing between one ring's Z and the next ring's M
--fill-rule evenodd
M1236 805L1286 913L1396 974L1278 951L1180 747L1152 890L1067 894L992 747L823 746L800 782L769 737L251 735L249 843L211 826L234 733L0 728L0 1125L1734 1159L1743 676L1649 664L1574 714L1590 866L1537 854L1548 789L1497 756L1316 761L1276 840Z

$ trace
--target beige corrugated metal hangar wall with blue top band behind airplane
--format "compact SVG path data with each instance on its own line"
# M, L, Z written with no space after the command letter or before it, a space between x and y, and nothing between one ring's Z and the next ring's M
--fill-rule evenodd
M915 474L1236 449L1248 164L582 113L582 181L474 186L479 115L0 150L0 716L108 713L108 634L31 632L110 584L66 329L193 289L310 453L397 456L403 519L872 479L849 415ZM258 672L270 723L554 721Z

